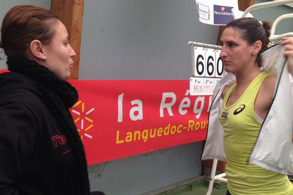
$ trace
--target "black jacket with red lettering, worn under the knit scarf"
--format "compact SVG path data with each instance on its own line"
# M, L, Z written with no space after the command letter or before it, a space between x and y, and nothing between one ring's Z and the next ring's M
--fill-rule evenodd
M76 195L71 150L34 83L0 74L0 195Z

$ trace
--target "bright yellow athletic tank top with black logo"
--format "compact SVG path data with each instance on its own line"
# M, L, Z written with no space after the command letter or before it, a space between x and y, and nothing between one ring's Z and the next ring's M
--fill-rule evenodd
M293 195L293 185L288 176L248 163L262 125L255 117L254 101L263 80L268 76L268 73L259 74L242 96L226 107L235 83L223 100L219 118L224 129L225 172L232 195Z

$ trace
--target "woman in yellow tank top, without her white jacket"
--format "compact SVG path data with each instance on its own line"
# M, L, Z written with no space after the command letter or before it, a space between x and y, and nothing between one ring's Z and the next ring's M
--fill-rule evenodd
M225 71L236 78L222 94L219 116L227 157L227 195L293 195L293 185L286 175L248 163L273 100L276 77L261 72L259 55L267 48L270 28L269 22L241 18L228 23L220 39ZM284 38L281 44L292 74L293 39Z

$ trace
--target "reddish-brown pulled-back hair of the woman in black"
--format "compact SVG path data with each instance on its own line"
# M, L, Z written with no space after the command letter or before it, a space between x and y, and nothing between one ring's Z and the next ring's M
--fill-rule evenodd
M54 35L51 27L58 17L51 11L32 5L18 5L5 15L1 26L0 48L7 57L27 57L29 44L38 39L48 44Z

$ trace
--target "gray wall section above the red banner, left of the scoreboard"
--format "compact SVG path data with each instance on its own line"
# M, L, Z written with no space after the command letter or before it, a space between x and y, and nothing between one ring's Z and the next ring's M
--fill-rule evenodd
M188 79L188 40L215 44L195 0L85 0L80 79Z

